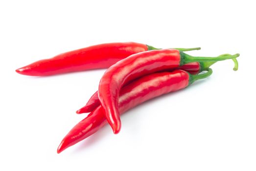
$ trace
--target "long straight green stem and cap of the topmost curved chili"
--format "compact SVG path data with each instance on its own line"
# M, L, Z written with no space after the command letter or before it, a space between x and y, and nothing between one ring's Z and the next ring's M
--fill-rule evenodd
M220 55L218 57L193 57L186 53L180 52L181 54L181 63L180 65L193 63L193 62L217 62L217 61L224 61L228 59L233 59L239 57L239 54L235 55Z

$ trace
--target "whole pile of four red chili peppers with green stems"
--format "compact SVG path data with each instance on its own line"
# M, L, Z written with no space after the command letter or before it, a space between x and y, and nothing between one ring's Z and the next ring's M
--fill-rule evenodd
M91 112L64 137L57 152L89 137L109 123L114 133L121 128L120 114L163 94L183 89L212 74L217 61L232 59L238 69L239 54L193 57L184 51L198 48L158 49L141 43L105 43L37 61L16 70L19 74L48 76L108 68L98 91L76 113Z

